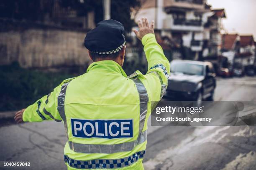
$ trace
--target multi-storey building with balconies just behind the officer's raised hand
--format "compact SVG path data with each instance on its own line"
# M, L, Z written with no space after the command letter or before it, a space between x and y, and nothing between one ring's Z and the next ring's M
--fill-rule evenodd
M221 19L225 12L210 10L206 0L143 0L134 19L155 20L161 38L172 44L172 59L202 60L220 55ZM211 20L211 22L209 22Z

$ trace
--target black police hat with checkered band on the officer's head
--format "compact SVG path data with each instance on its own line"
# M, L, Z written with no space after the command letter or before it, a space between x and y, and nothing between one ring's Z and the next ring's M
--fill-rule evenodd
M97 54L112 54L125 45L123 24L116 20L103 20L87 32L84 46Z

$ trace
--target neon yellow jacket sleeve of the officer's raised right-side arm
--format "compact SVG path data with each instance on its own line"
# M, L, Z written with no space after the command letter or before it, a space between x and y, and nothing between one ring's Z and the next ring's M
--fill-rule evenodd
M142 40L144 52L148 61L148 72L142 75L136 71L133 74L138 75L151 101L159 101L166 91L168 77L170 74L170 62L164 55L161 46L156 42L154 34L144 35Z

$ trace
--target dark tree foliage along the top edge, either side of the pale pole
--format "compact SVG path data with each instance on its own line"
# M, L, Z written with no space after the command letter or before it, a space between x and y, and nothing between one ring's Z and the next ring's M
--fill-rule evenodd
M52 17L54 4L77 11L78 16L86 16L94 11L95 23L103 20L102 0L2 0L0 17L17 20L43 21L45 16ZM118 20L130 31L133 26L131 7L139 6L139 0L111 0L111 18Z

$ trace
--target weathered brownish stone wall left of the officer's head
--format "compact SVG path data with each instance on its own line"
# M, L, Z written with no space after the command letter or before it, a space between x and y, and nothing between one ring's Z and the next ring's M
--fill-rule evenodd
M85 66L86 30L0 20L0 65L18 61L22 67Z

